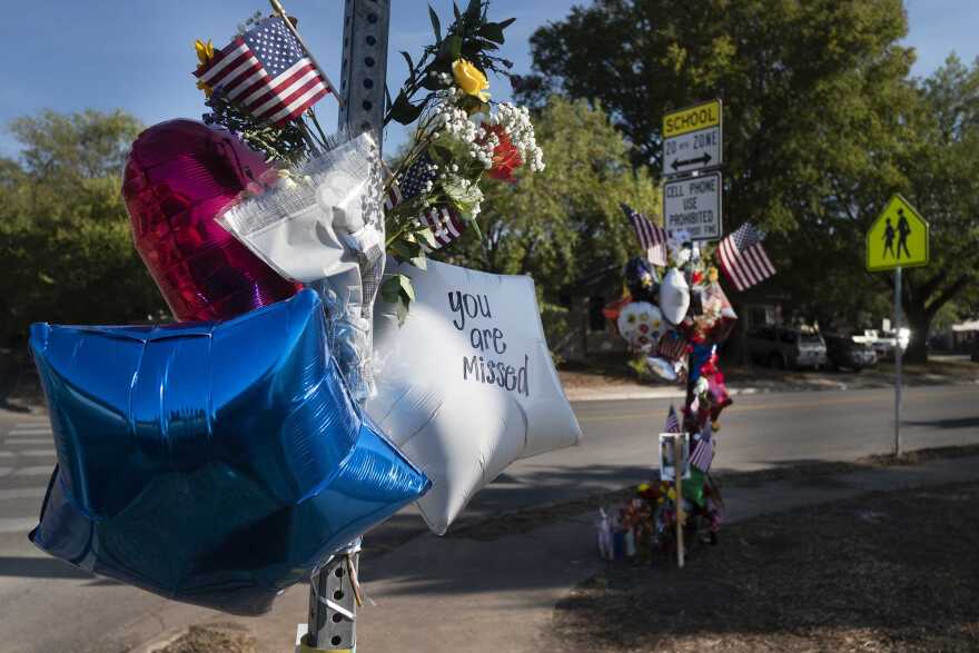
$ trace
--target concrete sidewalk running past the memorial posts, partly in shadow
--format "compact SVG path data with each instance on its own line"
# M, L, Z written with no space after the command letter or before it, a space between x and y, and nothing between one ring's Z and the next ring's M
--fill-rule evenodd
M725 487L725 521L887 492L979 478L979 456L874 467L854 473ZM358 617L358 649L497 653L537 651L554 605L605 563L595 552L593 515L551 523L514 520L507 534L471 528L446 537L418 536L393 552L363 560L367 595ZM723 546L723 532L722 532ZM369 534L367 536L369 541ZM695 573L695 562L690 567ZM108 642L152 642L152 651L191 623L234 622L256 636L263 653L291 650L306 619L307 587L293 587L259 619L229 617L201 609L168 609L111 633ZM106 649L109 650L109 649ZM117 649L111 649L117 650Z

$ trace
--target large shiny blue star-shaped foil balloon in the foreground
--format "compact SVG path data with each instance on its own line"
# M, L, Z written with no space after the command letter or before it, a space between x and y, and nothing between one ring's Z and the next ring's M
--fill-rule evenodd
M33 325L58 467L31 540L89 572L267 611L429 482L350 400L323 306L217 324Z

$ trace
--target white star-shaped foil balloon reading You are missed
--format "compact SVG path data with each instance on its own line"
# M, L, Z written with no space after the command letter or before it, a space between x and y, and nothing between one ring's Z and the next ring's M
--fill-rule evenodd
M517 458L577 444L581 429L554 370L534 281L428 263L400 266L415 300L398 327L375 311L383 362L367 412L434 487L418 502L445 533L469 498Z

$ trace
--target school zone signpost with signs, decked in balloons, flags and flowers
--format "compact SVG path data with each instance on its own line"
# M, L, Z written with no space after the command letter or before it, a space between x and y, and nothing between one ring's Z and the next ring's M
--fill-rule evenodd
M679 414L670 407L660 436L659 478L641 485L625 506L600 514L605 557L625 551L614 546L616 533L622 538L629 534L641 560L674 552L680 566L691 544L718 541L723 502L710 468L721 414L732 404L718 347L738 319L721 277L742 291L775 274L761 245L764 234L753 225L742 224L722 237L722 179L713 169L723 160L721 121L718 100L665 117L663 160L671 164L664 167L664 188L675 189L672 198L664 195L665 228L622 205L645 256L626 264L626 290L603 313L629 343L636 364L654 378L683 384L686 396ZM698 184L704 180L710 182ZM711 195L706 208L703 198L690 197L692 188ZM672 200L679 200L679 208L668 215ZM683 210L690 215L683 217ZM686 464L684 473L676 473L678 463Z

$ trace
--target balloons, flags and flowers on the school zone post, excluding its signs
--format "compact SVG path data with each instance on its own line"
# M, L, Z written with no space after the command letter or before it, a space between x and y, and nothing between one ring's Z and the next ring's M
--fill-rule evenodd
M645 220L624 208L633 220ZM723 503L710 467L718 447L721 413L732 403L718 366L718 347L738 319L721 287L719 267L733 280L742 256L768 261L760 244L754 245L758 250L745 253L752 244L740 237L729 236L716 251L711 251L685 231L668 235L660 230L665 245L650 251L656 254L657 265L644 257L631 259L624 269L626 290L605 307L604 314L654 378L685 386L681 415L678 418L671 406L664 432L689 434L689 476L684 476L682 496L661 479L641 485L621 509L600 513L600 552L610 560L630 550L633 554L645 554L650 548L675 550L678 518L691 535L699 535L688 541L716 542ZM756 230L752 228L752 232ZM718 266L712 260L714 254ZM616 546L619 542L635 544Z

